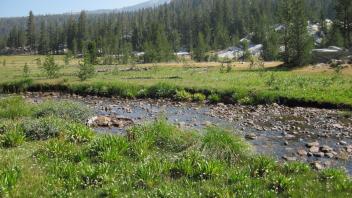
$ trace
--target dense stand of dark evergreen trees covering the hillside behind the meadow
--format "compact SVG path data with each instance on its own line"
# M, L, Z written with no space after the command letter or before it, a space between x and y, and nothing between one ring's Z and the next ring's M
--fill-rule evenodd
M333 31L326 31L324 45L351 46L351 0L174 0L157 8L136 12L34 16L8 19L11 30L0 21L0 49L27 47L32 53L60 54L68 48L83 53L94 43L101 55L116 55L127 61L133 51L145 52L145 62L168 61L184 49L199 61L207 51L225 49L251 37L264 44L263 57L292 65L307 62L312 48L307 21L333 19ZM6 21L6 20L5 20ZM274 31L277 24L284 32ZM1 33L3 32L3 33ZM342 38L342 39L341 39Z

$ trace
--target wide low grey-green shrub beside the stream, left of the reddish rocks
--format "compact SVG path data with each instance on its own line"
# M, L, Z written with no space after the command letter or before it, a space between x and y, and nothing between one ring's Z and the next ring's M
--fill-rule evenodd
M46 101L34 110L36 117L57 116L75 122L85 122L92 114L89 107L81 103L68 101Z

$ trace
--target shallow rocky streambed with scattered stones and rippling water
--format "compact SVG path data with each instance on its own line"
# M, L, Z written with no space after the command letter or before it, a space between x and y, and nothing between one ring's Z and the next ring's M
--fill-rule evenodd
M165 117L181 128L227 128L245 137L258 153L302 161L316 169L342 167L352 174L352 112L277 104L206 105L170 100L124 100L59 93L27 93L28 99L74 100L91 106L97 132L123 133L132 123ZM101 123L99 123L101 122Z

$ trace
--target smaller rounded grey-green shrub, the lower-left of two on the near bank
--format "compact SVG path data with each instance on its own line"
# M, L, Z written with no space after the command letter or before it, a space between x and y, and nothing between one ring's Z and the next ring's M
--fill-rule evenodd
M35 120L25 120L23 130L25 136L31 140L47 140L58 137L64 122L53 117L39 118Z

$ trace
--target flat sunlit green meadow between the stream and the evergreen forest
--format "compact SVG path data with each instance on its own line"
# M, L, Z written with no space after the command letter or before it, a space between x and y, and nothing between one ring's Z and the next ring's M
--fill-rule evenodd
M38 59L44 56L0 56L2 92L59 90L80 94L122 97L175 97L203 94L214 102L241 104L280 103L329 108L352 107L352 67L341 71L328 67L288 70L280 62L266 62L264 68L249 69L249 63L180 63L97 65L94 78L81 82L78 62L64 66L64 57L55 56L62 65L57 79L43 75ZM29 65L30 81L23 85L23 66ZM223 65L223 66L222 66ZM21 83L22 82L22 83ZM24 87L21 87L24 86Z

